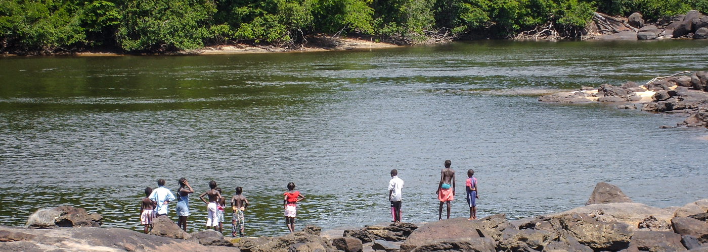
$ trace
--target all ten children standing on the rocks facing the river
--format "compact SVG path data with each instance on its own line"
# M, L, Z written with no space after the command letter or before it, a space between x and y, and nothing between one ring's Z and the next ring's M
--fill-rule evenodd
M440 183L438 190L438 200L440 200L440 212L438 220L442 220L442 205L447 204L447 218L450 218L450 202L455 198L455 171L450 169L452 162L445 160L445 169L440 171ZM467 203L469 205L469 219L476 219L476 198L479 198L477 191L477 180L474 178L474 171L467 171L468 179L465 183L465 191L467 191ZM142 198L140 205L140 223L144 225L144 232L147 234L152 228L152 219L161 215L167 215L167 204L177 199L177 216L178 227L187 231L187 217L189 216L189 195L194 193L194 190L189 185L187 179L181 178L178 180L180 188L177 190L178 198L172 192L165 188L164 179L157 180L157 188L154 190L150 187L145 188L145 198ZM389 181L389 200L391 201L391 216L393 222L401 222L401 189L404 181L398 177L396 169L391 170L391 180ZM226 198L222 196L222 189L217 187L216 181L209 182L209 190L202 193L199 198L207 204L207 229L211 227L214 230L222 232L224 222L224 208L226 208ZM299 191L295 191L295 183L288 183L287 190L282 193L282 208L285 210L285 224L290 232L295 232L295 215L297 212L296 203L304 200L305 196ZM242 195L243 188L236 187L236 194L231 198L232 208L232 236L244 236L244 211L249 206L249 200ZM209 201L205 200L205 196Z

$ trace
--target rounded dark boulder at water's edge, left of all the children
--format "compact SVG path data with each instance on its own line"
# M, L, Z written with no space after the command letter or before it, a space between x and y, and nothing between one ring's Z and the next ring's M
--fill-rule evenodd
M103 217L97 213L86 212L84 208L62 205L57 208L41 208L27 220L25 227L101 227Z

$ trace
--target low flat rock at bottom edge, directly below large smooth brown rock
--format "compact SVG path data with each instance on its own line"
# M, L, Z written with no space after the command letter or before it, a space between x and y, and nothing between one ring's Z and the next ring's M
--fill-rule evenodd
M413 249L412 252L434 251L470 251L470 252L496 252L494 241L489 238L459 238L445 239L430 242Z

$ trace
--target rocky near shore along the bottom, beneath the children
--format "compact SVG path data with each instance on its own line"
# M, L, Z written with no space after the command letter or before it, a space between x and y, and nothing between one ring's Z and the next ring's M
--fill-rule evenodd
M654 208L632 203L616 186L600 182L586 204L521 220L498 214L329 232L308 225L284 236L240 239L212 230L187 234L167 217L156 220L151 234L92 227L100 223L98 215L64 206L43 210L28 227L0 226L0 251L708 252L708 199ZM60 215L46 217L53 212ZM69 223L73 226L66 227Z

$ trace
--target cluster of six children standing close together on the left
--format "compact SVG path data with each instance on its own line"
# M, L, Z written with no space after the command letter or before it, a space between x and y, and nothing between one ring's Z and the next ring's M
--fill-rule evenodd
M144 225L143 232L147 234L149 229L152 228L152 219L161 215L167 215L167 204L171 201L177 199L177 225L182 228L185 232L187 231L187 217L189 216L189 195L194 193L194 190L187 179L181 178L178 180L180 188L177 190L178 198L172 194L172 192L165 188L165 180L157 180L157 188L154 190L150 187L145 188L145 198L142 198L142 203L140 205L140 224ZM206 227L209 229L213 227L214 230L219 232L223 231L224 222L224 208L226 208L226 198L221 195L222 189L217 187L216 181L209 182L209 190L202 193L199 198L207 204L207 224ZM295 184L293 184L295 188ZM236 195L231 198L231 208L232 208L232 222L231 222L231 234L236 237L236 233L239 236L244 236L244 211L249 206L249 200L242 195L243 188L241 186L236 187ZM204 196L207 196L209 201L205 200Z

